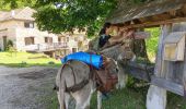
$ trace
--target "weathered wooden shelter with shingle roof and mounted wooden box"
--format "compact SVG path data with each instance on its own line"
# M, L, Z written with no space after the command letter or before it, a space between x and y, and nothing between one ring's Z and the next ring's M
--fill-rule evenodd
M126 8L125 0L119 2L106 22L124 28L161 27L147 108L165 109L166 90L186 96L186 0L154 0L133 8Z

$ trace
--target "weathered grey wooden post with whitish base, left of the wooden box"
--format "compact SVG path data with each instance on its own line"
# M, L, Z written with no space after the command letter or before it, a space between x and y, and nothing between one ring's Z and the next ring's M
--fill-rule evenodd
M168 63L163 61L163 40L171 32L171 25L162 25L162 34L159 39L159 48L154 75L158 77L166 77L166 69ZM165 109L166 108L166 90L158 86L151 85L147 95L147 109Z

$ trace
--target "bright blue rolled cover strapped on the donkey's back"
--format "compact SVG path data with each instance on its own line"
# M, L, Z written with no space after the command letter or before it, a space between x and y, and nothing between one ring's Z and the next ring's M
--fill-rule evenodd
M84 63L95 66L96 69L102 68L102 64L103 64L102 56L86 53L86 52L82 52L82 51L66 56L65 58L61 59L61 62L66 63L69 60L82 61Z

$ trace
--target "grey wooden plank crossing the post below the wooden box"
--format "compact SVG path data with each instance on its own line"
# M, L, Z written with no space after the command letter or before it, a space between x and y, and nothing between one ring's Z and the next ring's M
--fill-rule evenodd
M155 76L152 76L151 84L165 88L166 90L170 90L174 94L185 96L184 87L182 84L177 84L172 81L165 80L163 77L155 77Z

